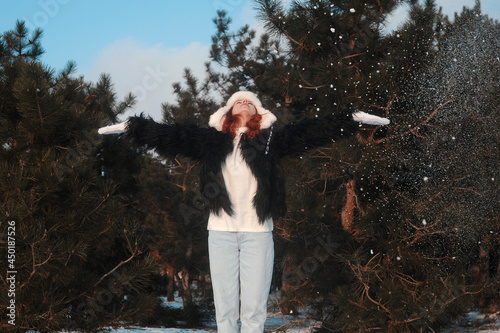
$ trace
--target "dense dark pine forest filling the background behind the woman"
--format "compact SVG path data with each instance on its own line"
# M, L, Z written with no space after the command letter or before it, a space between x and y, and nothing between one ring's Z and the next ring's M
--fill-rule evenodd
M452 21L406 1L407 22L382 33L401 2L259 0L260 36L219 11L206 78L186 69L162 105L166 123L206 126L247 89L282 123L345 107L391 119L283 161L273 290L325 332L436 331L499 311L499 24L479 1ZM136 96L42 54L41 30L2 34L2 330L202 326L200 166L99 136ZM160 306L175 291L183 309Z

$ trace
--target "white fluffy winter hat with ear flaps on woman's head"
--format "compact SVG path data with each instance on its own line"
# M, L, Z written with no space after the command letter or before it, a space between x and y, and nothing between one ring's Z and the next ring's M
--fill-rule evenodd
M252 102L252 104L255 106L255 108L257 109L257 113L262 116L262 120L260 121L261 129L271 127L271 125L277 120L274 114L262 107L262 103L254 93L250 91L238 91L229 98L226 106L223 106L210 116L208 125L218 131L222 131L222 125L224 124L226 113L233 107L234 103L236 103L236 101L240 99L246 99L247 101Z

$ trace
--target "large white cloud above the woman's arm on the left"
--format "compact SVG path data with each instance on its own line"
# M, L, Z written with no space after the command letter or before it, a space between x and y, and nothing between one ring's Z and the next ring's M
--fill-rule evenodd
M196 78L204 79L208 55L209 46L201 43L185 48L167 48L162 44L148 47L127 38L103 49L83 75L96 82L101 73L108 73L120 100L130 92L137 97L137 104L123 119L144 112L161 121L161 104L175 102L172 84L184 82L185 68L190 68Z

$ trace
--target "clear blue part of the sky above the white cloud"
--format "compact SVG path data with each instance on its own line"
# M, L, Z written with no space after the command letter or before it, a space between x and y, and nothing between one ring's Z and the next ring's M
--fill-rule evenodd
M241 14L242 0L0 0L0 31L17 19L44 30L44 60L60 67L69 59L88 67L100 51L132 38L144 47L186 47L210 43L218 9Z

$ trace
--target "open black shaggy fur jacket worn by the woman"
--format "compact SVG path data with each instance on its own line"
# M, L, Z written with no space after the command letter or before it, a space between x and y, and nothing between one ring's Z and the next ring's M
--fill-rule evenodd
M305 119L278 127L272 125L251 139L242 137L241 151L257 179L254 206L263 223L286 212L285 180L280 159L332 141L351 137L359 129L351 111ZM200 190L210 212L233 208L222 178L222 165L233 150L231 133L188 124L159 124L142 115L129 118L126 136L134 143L154 149L164 157L181 155L202 162Z

